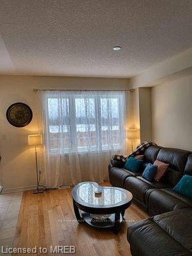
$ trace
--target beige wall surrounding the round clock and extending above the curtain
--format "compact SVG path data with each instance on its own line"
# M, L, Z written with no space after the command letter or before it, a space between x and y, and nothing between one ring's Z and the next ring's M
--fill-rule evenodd
M38 89L129 89L128 79L0 76L0 154L5 189L33 186L35 162L33 148L27 144L28 134L38 132ZM23 128L8 123L6 110L14 102L25 102L33 111L32 122ZM3 135L3 136L2 136Z

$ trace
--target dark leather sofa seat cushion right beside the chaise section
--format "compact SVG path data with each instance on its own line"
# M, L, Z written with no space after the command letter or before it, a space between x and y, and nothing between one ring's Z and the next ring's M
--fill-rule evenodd
M188 204L182 202L172 195L167 194L163 190L165 190L165 188L151 188L146 191L145 202L148 206L148 213L151 216L189 207ZM170 188L169 191L170 190L172 190L172 188Z

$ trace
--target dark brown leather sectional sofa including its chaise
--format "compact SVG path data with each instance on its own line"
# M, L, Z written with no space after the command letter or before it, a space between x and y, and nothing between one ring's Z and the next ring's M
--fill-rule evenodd
M133 256L192 255L192 199L173 191L184 174L192 175L192 153L177 148L150 146L144 151L138 173L123 168L118 160L109 165L110 182L133 194L133 201L148 212L149 219L127 229ZM160 182L141 177L145 166L159 160L169 164Z

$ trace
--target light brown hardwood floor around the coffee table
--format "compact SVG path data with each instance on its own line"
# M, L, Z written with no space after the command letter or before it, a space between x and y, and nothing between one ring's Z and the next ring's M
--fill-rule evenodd
M121 230L116 235L112 231L93 229L86 224L76 222L71 188L55 189L36 195L26 191L20 205L14 246L30 248L37 246L37 249L41 246L49 251L50 246L74 245L75 255L131 255L126 240L126 229L133 222L147 217L145 212L132 204L125 212L126 222L122 224ZM25 255L53 255L53 253Z

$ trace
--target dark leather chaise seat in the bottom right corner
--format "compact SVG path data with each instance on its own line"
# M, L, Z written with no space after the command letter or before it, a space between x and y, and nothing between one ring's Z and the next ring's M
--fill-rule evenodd
M187 218L180 222L185 216L190 221L189 225ZM133 224L127 229L132 255L191 255L191 216L191 210L179 210Z

